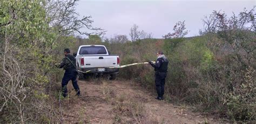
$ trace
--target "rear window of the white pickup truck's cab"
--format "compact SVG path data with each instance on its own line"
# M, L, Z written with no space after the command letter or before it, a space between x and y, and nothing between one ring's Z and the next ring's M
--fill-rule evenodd
M79 54L106 54L106 49L103 46L83 46Z

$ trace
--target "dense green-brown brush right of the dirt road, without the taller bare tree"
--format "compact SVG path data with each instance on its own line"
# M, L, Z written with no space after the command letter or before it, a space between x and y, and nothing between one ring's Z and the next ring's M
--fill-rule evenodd
M107 44L120 55L122 65L156 60L163 50L169 58L166 77L166 98L186 102L200 111L219 113L235 120L254 120L254 66L245 67L233 59L233 52L223 50L217 35L193 38L144 39L133 43ZM122 68L120 78L135 79L154 90L154 71L150 65Z

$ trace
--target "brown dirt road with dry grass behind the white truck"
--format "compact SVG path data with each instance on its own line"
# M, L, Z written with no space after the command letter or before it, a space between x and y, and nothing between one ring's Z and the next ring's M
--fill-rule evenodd
M125 80L78 81L82 96L76 97L72 83L63 101L66 123L220 123L187 107L154 99L155 94Z

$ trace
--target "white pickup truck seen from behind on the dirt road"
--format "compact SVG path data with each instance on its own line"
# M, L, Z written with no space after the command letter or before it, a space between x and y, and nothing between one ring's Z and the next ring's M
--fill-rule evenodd
M120 60L116 54L110 54L104 45L81 45L76 53L76 65L79 71L90 74L109 74L110 79L116 79ZM110 68L111 67L111 68Z

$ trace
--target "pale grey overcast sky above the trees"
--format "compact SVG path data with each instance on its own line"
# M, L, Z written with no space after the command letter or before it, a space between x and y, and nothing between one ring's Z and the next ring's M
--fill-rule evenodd
M139 30L152 33L153 38L161 38L172 32L176 22L185 20L188 33L187 37L197 36L202 29L202 19L210 15L213 10L222 10L228 16L232 12L239 13L244 8L252 9L256 1L240 0L201 0L201 1L110 1L110 0L80 0L77 12L82 16L92 16L95 27L105 29L104 37L114 35L127 35L133 24Z

